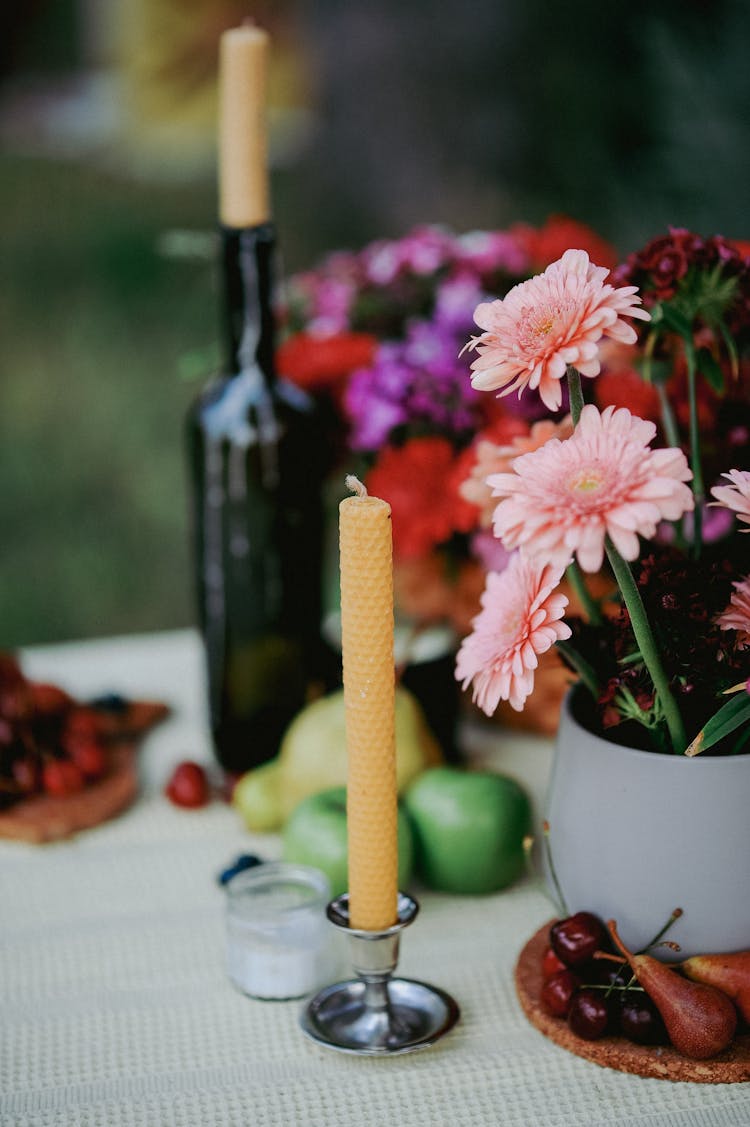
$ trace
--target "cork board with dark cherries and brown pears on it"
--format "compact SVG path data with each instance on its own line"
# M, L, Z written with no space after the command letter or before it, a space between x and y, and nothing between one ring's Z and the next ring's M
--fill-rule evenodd
M515 967L521 1006L541 1033L577 1056L639 1076L703 1083L750 1080L750 951L680 961L664 939L624 944L590 912L553 920ZM661 957L669 952L669 959Z

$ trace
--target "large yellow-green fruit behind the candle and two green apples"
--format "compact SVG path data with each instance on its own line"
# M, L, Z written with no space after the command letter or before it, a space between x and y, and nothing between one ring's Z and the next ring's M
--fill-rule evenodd
M399 792L426 766L442 762L440 747L415 696L396 689L396 784ZM346 729L343 689L320 696L299 712L279 752L283 822L294 807L328 787L346 784Z

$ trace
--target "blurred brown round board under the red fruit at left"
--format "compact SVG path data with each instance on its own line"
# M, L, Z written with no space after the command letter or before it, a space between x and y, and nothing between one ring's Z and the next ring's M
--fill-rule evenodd
M41 845L108 822L138 793L136 745L122 743L107 754L107 773L78 795L35 795L0 810L0 837Z

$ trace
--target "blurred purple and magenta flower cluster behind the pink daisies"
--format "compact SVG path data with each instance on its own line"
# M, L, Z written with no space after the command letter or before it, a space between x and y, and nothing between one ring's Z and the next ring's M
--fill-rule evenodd
M475 330L474 310L531 272L518 231L455 234L418 227L359 252L337 251L292 277L288 327L312 336L369 334L374 358L348 378L343 397L352 450L377 453L387 442L441 435L457 450L492 414L468 379L460 352ZM483 401L484 400L484 401ZM537 394L504 409L529 420L545 412Z

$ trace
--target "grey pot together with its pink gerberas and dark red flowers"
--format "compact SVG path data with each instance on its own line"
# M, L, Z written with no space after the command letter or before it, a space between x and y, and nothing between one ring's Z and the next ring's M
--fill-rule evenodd
M673 913L680 957L743 950L750 263L674 230L608 273L567 250L476 309L474 385L537 390L552 412L566 391L570 419L477 458L510 559L487 574L457 676L488 713L524 707L553 647L577 681L546 809L563 915L617 920L641 950ZM602 406L608 379L620 400ZM583 607L567 620L564 575Z

